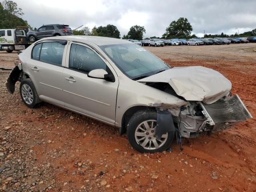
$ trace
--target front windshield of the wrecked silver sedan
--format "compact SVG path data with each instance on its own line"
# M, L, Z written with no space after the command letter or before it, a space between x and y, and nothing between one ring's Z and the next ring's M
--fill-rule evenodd
M126 76L133 80L170 69L162 60L136 44L102 45L100 48Z

